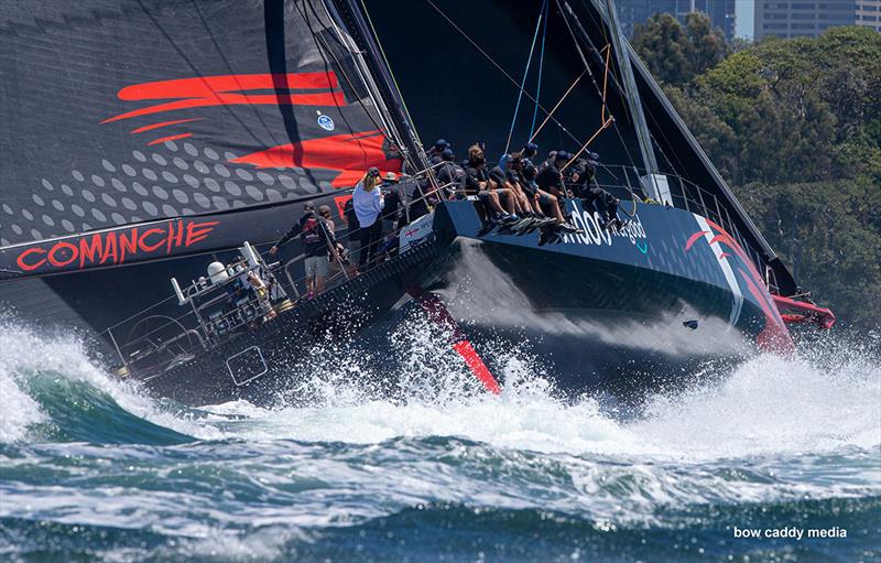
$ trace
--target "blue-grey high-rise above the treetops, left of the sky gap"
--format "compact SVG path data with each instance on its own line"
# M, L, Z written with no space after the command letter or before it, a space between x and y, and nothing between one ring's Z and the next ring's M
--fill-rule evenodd
M694 11L708 14L713 26L721 29L726 39L735 36L735 0L617 0L616 6L628 37L633 36L638 23L645 23L655 13L666 12L685 23L686 14Z

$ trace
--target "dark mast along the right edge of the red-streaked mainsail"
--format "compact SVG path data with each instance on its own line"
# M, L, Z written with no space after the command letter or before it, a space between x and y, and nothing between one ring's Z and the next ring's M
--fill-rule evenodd
M359 58L366 64L370 77L374 78L373 84L378 89L380 100L391 118L400 140L403 142L401 149L405 159L415 167L411 172L427 169L428 160L425 158L422 142L406 116L403 97L385 64L384 56L371 31L371 26L365 19L365 14L358 7L357 1L333 0L326 6L337 12L337 19L345 25L356 45L363 50Z

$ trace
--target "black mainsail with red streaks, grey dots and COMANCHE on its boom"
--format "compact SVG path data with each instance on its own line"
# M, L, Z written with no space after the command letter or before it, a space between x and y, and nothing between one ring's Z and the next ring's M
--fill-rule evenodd
M400 171L362 65L320 1L3 2L2 275L269 240L268 209Z

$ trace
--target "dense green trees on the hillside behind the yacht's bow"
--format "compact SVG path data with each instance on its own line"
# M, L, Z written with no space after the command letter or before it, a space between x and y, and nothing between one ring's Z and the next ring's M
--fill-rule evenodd
M881 34L727 42L695 12L632 44L796 281L881 326Z

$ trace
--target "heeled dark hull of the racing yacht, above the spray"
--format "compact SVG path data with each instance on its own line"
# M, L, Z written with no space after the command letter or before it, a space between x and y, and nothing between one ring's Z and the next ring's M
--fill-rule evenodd
M576 203L570 208L583 213ZM432 240L144 383L189 404L305 399L297 390L311 348L351 338L352 318L360 327L391 320L390 310L423 290L440 297L459 338L478 353L500 343L523 348L568 397L638 397L742 360L758 353L757 343L788 342L763 302L770 295L753 293L747 264L733 264L740 275L732 291L719 262L740 258L720 259L718 242L695 238L700 224L690 214L641 206L635 220L633 237L588 225L600 243L569 237L540 245L540 232L487 229L472 204L448 203L437 210ZM486 359L503 386L503 366ZM400 371L385 367L385 375Z

